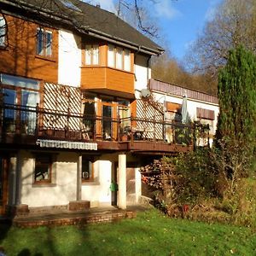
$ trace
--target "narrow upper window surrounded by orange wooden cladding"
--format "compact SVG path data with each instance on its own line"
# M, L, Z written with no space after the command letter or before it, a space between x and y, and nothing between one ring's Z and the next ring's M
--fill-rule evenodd
M52 55L52 32L41 27L37 30L37 54L47 57Z

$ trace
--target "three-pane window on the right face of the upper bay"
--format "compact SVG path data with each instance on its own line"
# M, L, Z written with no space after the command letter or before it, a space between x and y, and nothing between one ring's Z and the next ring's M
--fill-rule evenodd
M131 71L131 51L108 45L108 67Z

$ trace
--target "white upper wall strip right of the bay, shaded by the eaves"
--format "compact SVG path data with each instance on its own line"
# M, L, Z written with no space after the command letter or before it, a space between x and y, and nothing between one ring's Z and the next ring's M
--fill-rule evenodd
M151 69L148 67L148 56L136 55L134 63L135 72L135 90L147 88L148 79L151 78Z

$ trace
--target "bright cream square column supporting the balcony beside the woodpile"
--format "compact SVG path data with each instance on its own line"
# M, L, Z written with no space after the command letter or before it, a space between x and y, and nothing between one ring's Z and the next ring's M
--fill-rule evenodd
M118 184L118 207L126 209L126 154L119 154Z

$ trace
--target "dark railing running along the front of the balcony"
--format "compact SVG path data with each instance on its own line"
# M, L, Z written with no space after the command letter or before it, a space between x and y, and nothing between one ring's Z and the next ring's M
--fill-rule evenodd
M183 125L167 120L69 113L47 108L3 104L0 133L69 141L112 141L192 145L195 135L208 144L206 125Z

